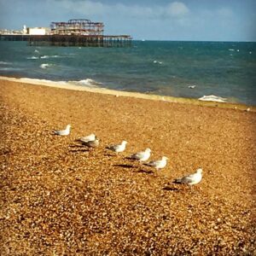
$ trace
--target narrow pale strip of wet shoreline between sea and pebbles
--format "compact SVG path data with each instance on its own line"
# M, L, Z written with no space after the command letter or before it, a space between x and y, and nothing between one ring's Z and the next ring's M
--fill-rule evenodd
M66 90L78 90L78 91L87 91L92 93L107 94L113 96L125 96L125 97L134 97L140 99L148 99L160 102L172 102L172 103L181 103L181 104L190 104L202 107L212 107L212 108L231 108L241 111L256 112L256 106L250 106L242 103L230 103L230 102L213 102L213 101L201 101L195 98L183 98L183 97L174 97L174 96L160 96L160 95L149 95L140 92L130 92L123 90L111 90L107 88L100 87L90 87L82 86L78 84L71 84L68 81L55 82L46 79L29 79L29 78L15 78L15 77L4 77L0 76L0 80L7 80L15 83L24 83L24 84L34 84L34 85L44 85L54 88L66 89Z

